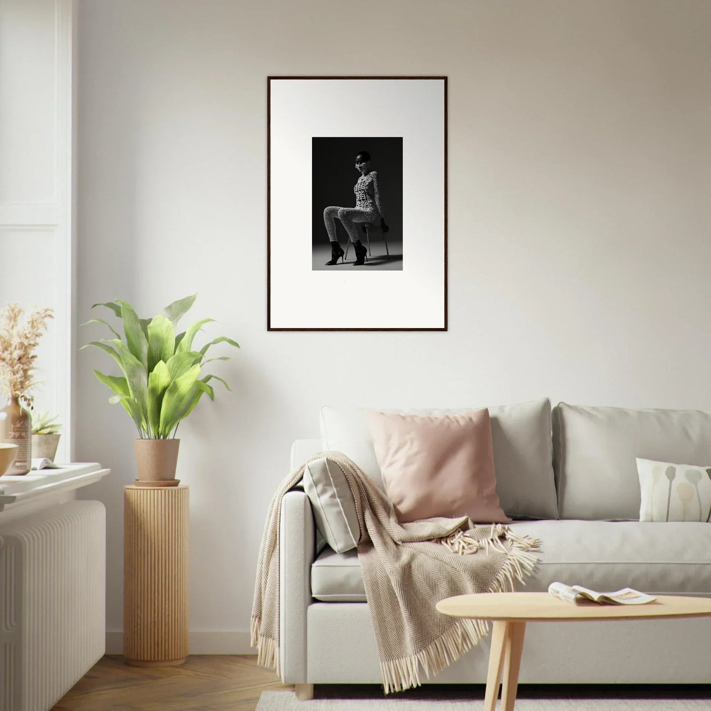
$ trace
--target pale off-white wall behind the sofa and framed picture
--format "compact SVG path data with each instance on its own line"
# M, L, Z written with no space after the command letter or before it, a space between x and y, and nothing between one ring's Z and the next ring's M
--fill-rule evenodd
M707 0L92 0L79 33L78 319L198 292L242 343L181 426L191 629L222 633L193 651L246 650L267 504L324 403L711 409ZM267 333L270 74L449 75L448 333ZM134 434L100 355L77 451L114 469L87 495L119 630Z

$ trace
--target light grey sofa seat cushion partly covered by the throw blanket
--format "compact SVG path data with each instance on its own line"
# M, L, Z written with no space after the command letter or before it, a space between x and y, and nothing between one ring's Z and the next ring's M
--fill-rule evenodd
M539 564L523 592L555 581L599 592L634 587L651 594L711 594L711 525L638 521L518 521L518 535L540 538ZM365 602L358 554L326 548L311 566L311 594L324 602Z

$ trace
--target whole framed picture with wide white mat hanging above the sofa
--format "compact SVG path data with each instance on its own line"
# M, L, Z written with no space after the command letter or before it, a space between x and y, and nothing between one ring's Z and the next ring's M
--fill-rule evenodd
M447 77L269 77L269 331L447 330Z

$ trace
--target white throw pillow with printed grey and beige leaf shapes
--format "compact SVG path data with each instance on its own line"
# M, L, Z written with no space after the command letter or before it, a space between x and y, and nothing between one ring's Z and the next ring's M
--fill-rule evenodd
M711 523L711 466L637 459L641 521Z

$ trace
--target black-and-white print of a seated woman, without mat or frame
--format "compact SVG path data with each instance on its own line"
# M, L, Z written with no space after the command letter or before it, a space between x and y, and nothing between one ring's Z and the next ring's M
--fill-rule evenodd
M402 138L314 137L311 159L312 269L402 270Z

